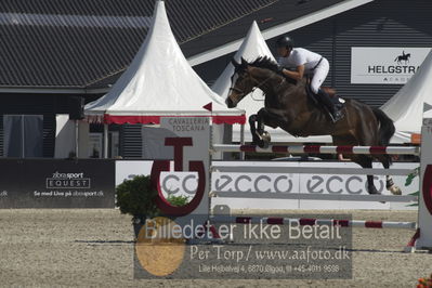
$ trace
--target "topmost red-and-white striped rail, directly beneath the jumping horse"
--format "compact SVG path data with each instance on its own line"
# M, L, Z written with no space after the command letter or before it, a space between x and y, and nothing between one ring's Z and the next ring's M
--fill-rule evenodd
M253 152L283 154L389 154L389 155L420 155L417 146L325 146L325 145L270 145L260 148L256 145L213 144L212 152Z

